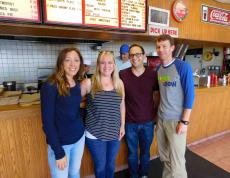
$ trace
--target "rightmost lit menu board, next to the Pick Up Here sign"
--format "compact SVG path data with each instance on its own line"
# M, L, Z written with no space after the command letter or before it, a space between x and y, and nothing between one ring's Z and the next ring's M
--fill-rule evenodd
M121 28L146 30L146 0L121 0Z

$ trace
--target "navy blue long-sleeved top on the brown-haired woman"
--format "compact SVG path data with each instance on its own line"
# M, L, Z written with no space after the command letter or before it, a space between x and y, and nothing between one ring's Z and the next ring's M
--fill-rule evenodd
M81 91L77 83L70 88L69 96L60 96L56 84L46 82L41 89L41 112L46 141L55 153L55 158L65 156L62 145L77 142L84 134L80 119Z

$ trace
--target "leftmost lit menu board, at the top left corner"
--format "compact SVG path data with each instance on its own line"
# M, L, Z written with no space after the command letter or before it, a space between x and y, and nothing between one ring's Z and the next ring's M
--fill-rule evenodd
M39 0L0 0L0 19L40 22Z

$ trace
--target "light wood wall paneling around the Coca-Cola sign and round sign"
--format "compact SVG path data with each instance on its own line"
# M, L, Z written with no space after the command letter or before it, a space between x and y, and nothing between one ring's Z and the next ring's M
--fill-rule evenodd
M170 16L170 26L179 28L179 38L200 41L230 42L230 26L201 22L201 4L230 10L230 5L213 0L184 0L188 5L189 14L182 22L176 22ZM171 9L173 0L149 0L148 5Z

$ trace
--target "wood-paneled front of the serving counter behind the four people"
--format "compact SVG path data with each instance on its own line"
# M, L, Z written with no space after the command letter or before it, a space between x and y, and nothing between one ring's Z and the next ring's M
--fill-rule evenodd
M41 126L40 106L0 107L0 178L49 178L46 142ZM188 143L230 130L230 87L196 89ZM151 156L156 154L156 141ZM127 164L124 141L116 166ZM81 175L93 174L89 151L85 148Z

